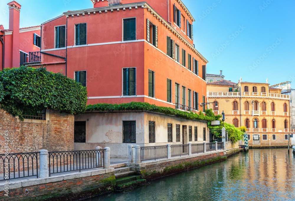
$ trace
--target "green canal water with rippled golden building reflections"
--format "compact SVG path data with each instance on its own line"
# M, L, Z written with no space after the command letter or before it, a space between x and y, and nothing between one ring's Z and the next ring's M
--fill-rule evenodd
M295 200L295 157L288 149L250 149L223 162L88 201L101 200Z

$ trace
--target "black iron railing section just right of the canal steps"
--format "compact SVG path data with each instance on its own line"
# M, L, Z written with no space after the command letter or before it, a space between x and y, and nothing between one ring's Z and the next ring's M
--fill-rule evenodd
M140 147L140 161L168 158L167 145Z

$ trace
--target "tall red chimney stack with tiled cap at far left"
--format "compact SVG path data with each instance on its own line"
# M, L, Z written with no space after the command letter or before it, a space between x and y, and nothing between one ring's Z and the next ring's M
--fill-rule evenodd
M19 67L19 3L12 1L7 4L9 8L9 29L12 31L12 67Z

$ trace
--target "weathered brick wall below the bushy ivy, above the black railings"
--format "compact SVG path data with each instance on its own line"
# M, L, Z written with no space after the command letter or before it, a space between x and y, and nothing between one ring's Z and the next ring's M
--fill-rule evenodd
M0 154L4 153L9 131L9 153L71 151L74 149L74 115L49 110L48 124L17 122L12 114L0 109Z

